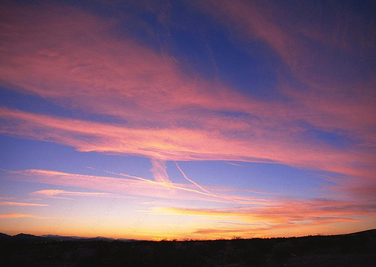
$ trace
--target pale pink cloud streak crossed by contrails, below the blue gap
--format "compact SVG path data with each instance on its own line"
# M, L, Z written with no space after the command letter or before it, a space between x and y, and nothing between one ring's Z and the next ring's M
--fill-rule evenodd
M207 193L205 191L196 190L196 186L190 184L177 184L177 183L165 183L156 182L142 177L132 176L123 173L114 173L106 171L117 177L106 176L92 176L83 174L63 173L59 171L50 170L23 170L24 173L30 174L30 177L21 176L17 174L9 174L3 176L2 179L8 179L12 181L26 181L51 185L62 185L71 187L88 188L92 190L100 190L111 192L108 194L114 196L117 194L131 194L135 196L150 196L159 197L164 199L186 199L186 200L203 200L209 202L222 202L222 203L244 203L252 205L280 205L280 203L290 202L288 199L278 199L274 197L247 197L237 194L223 194L223 192L237 192L240 189L233 188L217 188L210 187L212 192ZM45 196L58 196L60 193L64 194L64 191L47 190L37 191L36 195ZM59 193L59 194L55 194ZM79 192L65 191L66 195L73 196L75 193L79 195ZM107 193L103 193L107 194ZM101 194L103 196L103 194ZM85 194L80 194L81 196ZM89 193L88 193L89 195Z

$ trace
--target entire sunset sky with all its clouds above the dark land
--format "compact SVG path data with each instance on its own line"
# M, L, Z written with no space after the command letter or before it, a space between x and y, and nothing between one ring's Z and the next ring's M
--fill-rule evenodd
M0 232L376 228L373 1L0 5Z

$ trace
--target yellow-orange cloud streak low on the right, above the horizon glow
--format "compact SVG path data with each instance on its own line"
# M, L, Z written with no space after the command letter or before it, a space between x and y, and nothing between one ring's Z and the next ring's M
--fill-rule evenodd
M359 218L354 217L359 215L373 216L376 214L374 207L374 205L361 206L359 203L349 205L342 202L334 202L334 205L323 206L320 204L320 201L314 200L283 203L279 206L265 203L264 206L240 207L235 209L153 207L150 210L141 212L160 215L207 216L213 217L215 220L240 220L275 228L287 227L292 223L299 225L327 225L332 222L360 222Z

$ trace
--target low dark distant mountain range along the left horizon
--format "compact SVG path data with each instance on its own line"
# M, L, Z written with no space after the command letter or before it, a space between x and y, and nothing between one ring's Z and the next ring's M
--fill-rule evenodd
M135 239L119 238L115 239L112 237L77 237L70 236L64 237L62 235L30 235L30 234L18 234L18 235L7 235L0 233L0 243L38 243L38 242L56 242L56 241L74 241L74 242L90 242L90 241L106 241L106 242L132 242L139 241Z

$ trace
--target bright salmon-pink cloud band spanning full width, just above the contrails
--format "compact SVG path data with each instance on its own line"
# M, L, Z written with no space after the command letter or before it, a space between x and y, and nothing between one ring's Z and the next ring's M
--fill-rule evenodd
M275 162L346 174L373 173L354 164L362 160L364 165L371 165L374 155L368 152L344 152L323 144L300 143L285 135L287 133L281 136L270 132L243 140L227 138L214 130L129 128L7 108L0 108L0 118L4 121L1 133L52 141L82 152L141 155L163 160Z

